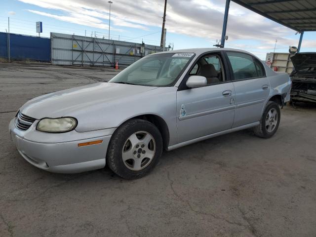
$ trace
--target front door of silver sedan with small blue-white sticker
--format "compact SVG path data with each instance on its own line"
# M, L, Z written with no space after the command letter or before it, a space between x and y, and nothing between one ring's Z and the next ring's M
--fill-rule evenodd
M230 129L234 122L235 89L221 56L201 57L190 75L204 76L208 84L177 91L178 143Z

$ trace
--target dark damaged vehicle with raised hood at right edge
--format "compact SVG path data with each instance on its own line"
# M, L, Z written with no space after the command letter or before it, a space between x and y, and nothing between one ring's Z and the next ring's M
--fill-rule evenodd
M291 60L292 102L316 103L316 53L297 53Z

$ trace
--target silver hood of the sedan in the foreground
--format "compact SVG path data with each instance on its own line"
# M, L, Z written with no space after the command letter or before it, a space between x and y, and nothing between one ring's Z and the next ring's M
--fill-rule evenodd
M91 107L109 104L156 88L158 87L98 82L36 97L24 104L20 111L37 119L76 116L78 111L88 112Z

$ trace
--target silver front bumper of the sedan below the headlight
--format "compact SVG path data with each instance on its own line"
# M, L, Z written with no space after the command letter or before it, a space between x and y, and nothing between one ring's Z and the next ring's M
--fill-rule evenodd
M115 128L89 132L45 133L37 131L35 121L26 131L17 129L13 118L9 124L10 138L18 152L29 163L50 172L79 173L105 166L108 145ZM100 144L79 143L103 140Z

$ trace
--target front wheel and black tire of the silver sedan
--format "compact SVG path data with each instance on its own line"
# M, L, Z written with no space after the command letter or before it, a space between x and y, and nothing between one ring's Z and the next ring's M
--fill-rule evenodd
M133 118L118 127L112 135L106 162L124 179L137 179L148 174L162 153L162 137L151 122Z

